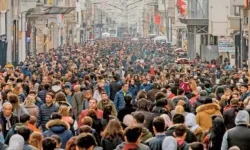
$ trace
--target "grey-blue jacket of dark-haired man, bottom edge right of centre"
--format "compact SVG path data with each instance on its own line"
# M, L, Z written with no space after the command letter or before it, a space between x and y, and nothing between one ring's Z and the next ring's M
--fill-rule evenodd
M155 137L148 139L145 143L151 150L162 150L162 142L165 137L164 133L156 134Z

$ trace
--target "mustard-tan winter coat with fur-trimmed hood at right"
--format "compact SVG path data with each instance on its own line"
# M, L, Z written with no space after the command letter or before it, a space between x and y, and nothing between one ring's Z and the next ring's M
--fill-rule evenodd
M212 116L221 115L220 106L215 103L204 104L196 109L196 123L203 129L207 131L212 127Z

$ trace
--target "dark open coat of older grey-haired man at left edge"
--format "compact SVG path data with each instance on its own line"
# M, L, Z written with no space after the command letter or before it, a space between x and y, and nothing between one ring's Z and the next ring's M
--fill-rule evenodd
M12 116L10 118L11 126L14 126L18 122L19 122L19 119L17 118L17 116L12 114ZM2 132L3 132L4 137L6 137L6 135L8 133L8 131L6 130L6 124L7 124L7 120L4 117L3 112L0 112L0 125L2 126Z

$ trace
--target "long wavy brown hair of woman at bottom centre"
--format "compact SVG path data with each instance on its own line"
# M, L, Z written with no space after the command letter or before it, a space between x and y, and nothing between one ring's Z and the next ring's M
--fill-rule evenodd
M120 122L116 119L109 121L108 125L102 132L103 138L114 138L116 136L123 135L123 130Z

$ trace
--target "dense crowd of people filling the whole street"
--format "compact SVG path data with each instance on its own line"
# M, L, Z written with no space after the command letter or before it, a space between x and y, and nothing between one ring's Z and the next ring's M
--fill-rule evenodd
M249 150L248 66L97 40L0 73L0 150Z

